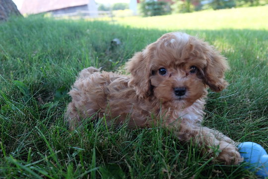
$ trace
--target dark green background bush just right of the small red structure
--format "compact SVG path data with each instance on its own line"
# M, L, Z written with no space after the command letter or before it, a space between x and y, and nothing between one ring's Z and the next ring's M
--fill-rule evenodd
M171 12L168 2L154 0L141 1L139 10L143 16L165 15Z

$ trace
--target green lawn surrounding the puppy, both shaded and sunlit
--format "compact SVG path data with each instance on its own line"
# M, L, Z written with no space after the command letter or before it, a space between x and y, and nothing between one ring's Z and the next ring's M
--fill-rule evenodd
M216 46L231 67L226 74L229 87L209 93L203 124L268 150L268 23L262 16L246 13L267 17L266 9L235 9L244 11L241 16L229 9L135 17L139 19L135 22L38 16L1 22L0 178L257 178L243 166L212 164L197 146L180 143L165 129L106 128L88 119L70 132L64 113L70 101L66 93L81 69L96 66L124 73L123 66L134 52L163 33L181 30ZM207 22L199 19L205 16ZM230 16L241 26L228 24ZM188 25L168 23L167 19L175 22L177 17ZM166 24L147 23L143 28L150 19L165 19ZM122 45L112 48L113 38L121 39Z

